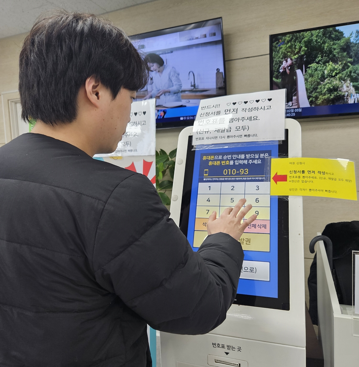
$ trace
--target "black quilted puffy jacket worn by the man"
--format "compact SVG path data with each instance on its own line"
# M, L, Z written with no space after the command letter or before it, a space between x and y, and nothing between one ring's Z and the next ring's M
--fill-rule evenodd
M198 252L141 174L23 134L0 148L0 366L149 366L146 324L207 333L243 251Z

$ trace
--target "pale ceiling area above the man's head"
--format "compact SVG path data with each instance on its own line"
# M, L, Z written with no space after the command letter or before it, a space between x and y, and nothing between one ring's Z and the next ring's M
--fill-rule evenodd
M149 0L0 0L0 38L29 32L36 19L53 9L104 14Z

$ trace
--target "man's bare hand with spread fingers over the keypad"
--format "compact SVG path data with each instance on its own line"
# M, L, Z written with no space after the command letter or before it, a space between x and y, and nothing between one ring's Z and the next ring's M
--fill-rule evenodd
M250 218L243 221L243 217L251 210L251 204L248 204L243 208L246 199L240 199L234 208L226 208L225 211L220 215L218 219L217 213L214 211L207 223L208 235L213 235L213 233L227 233L232 236L237 241L243 235L244 229L247 228L252 222L255 221L257 215L253 214Z

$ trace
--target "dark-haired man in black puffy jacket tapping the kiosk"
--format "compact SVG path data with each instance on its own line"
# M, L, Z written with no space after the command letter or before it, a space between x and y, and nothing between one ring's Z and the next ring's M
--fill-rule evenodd
M148 78L112 23L45 18L19 66L37 122L0 148L0 366L151 366L147 323L200 334L225 319L251 206L214 212L195 253L145 176L92 159L116 149Z

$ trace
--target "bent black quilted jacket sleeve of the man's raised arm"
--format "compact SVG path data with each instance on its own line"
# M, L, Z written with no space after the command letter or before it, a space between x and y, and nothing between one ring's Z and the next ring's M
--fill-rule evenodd
M98 224L95 278L153 328L204 334L226 318L243 250L233 237L216 233L194 252L169 215L145 176L120 183Z

